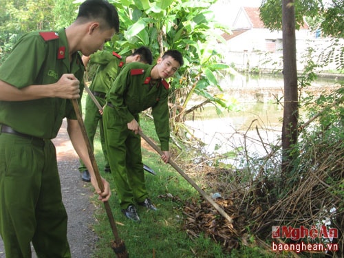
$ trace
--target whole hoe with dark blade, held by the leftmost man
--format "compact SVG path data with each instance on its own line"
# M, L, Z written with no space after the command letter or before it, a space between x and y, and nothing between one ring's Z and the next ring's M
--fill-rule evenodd
M96 180L98 182L98 186L100 191L104 191L104 184L103 181L100 177L100 173L98 170L98 166L96 164L96 158L94 158L94 153L91 147L91 143L89 142L89 138L87 137L87 132L85 129L85 124L83 122L83 115L81 114L79 105L78 105L78 100L73 99L72 104L74 107L74 111L76 113L76 118L78 119L78 123L80 125L81 133L83 133L83 138L85 140L86 146L87 146L87 151L89 154L89 159L92 162L92 167L94 169L94 174L96 175ZM114 250L116 253L116 256L118 258L128 258L129 254L127 252L127 248L125 247L125 242L120 239L118 232L117 232L117 227L114 221L114 216L112 215L111 208L109 205L109 202L104 202L105 210L107 212L107 217L109 218L109 222L111 225L112 233L114 234L115 240L111 244L111 248Z

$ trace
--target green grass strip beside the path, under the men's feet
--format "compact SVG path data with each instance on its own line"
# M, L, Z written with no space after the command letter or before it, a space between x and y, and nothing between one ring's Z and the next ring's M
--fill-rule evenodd
M153 122L142 117L140 124L144 133L157 142ZM197 198L200 195L172 166L164 164L158 153L152 153L146 149L142 149L143 162L157 173L156 176L145 173L146 184L149 197L157 206L158 211L146 211L145 208L137 206L141 222L131 222L120 212L114 180L111 174L103 172L105 161L99 139L100 136L97 132L94 142L97 164L102 176L112 186L109 204L116 221L118 235L125 241L129 257L268 257L267 255L261 256L259 252L251 249L246 250L247 248L232 252L232 254L226 254L222 252L221 246L215 243L213 239L202 235L197 239L191 239L186 233L186 229L184 229L183 204L191 200L191 198ZM89 187L92 188L92 186ZM180 198L180 201L166 197L167 193ZM111 248L111 241L114 241L114 235L112 234L105 208L103 204L98 202L96 195L94 195L91 201L97 207L95 217L98 224L93 225L93 229L99 237L93 257L116 257L114 250Z

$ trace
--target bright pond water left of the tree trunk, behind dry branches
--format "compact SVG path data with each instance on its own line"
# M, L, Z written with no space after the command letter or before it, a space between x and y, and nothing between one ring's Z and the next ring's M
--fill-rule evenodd
M320 78L312 86L335 83L336 78ZM226 153L246 144L250 153L260 156L268 154L270 144L280 144L283 107L277 99L283 96L282 76L228 76L220 85L234 110L218 115L213 105L207 105L185 122L193 136L205 143L204 152ZM194 98L190 105L200 102Z

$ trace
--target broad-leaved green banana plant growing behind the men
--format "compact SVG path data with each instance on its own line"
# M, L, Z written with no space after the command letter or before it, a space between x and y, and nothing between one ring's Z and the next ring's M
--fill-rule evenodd
M219 42L225 41L216 32L229 32L229 29L215 21L215 14L210 10L215 1L112 1L120 16L121 32L109 47L125 54L145 45L155 58L169 49L179 50L184 56L184 66L169 82L173 130L177 122L184 122L185 116L195 110L189 107L194 94L204 98L203 105L230 107L221 94L214 96L208 90L216 87L222 92L218 78L229 71L228 65L219 62L222 57Z

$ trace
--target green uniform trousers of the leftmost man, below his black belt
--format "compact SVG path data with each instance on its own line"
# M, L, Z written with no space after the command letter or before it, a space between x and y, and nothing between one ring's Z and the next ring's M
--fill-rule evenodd
M51 140L0 133L0 234L6 257L71 257Z

